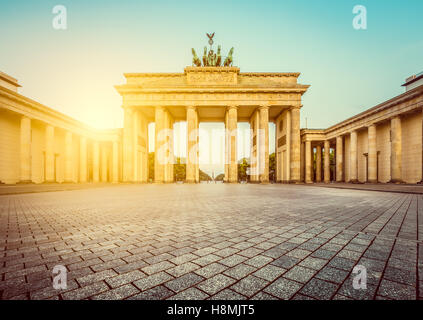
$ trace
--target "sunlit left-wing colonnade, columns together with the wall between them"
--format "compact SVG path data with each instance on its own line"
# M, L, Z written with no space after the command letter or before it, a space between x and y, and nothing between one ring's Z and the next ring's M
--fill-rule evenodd
M99 141L45 123L44 142L35 143L33 140L33 121L27 116L20 118L19 183L34 182L32 174L33 169L35 169L32 161L34 152L44 154L44 160L41 164L38 164L44 166L44 183L119 182L118 137L112 141ZM60 131L60 137L58 131ZM62 138L62 136L64 137ZM79 149L75 152L78 145ZM112 149L111 161L109 161L110 149ZM90 154L90 157L88 157L88 154ZM57 177L58 157L63 159L63 179L61 181ZM88 168L90 168L90 171Z

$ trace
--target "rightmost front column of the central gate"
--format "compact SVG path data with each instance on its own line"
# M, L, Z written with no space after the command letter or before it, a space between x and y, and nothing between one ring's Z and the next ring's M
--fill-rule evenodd
M291 182L300 182L300 108L291 109Z

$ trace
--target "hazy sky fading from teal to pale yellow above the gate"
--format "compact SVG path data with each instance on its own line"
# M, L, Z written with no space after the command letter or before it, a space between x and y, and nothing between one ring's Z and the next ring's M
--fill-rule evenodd
M54 30L64 5L68 29ZM352 26L367 8L367 30ZM124 72L182 72L216 32L241 72L301 72L301 125L325 128L403 92L423 71L423 1L0 0L0 70L21 93L94 127L121 127Z

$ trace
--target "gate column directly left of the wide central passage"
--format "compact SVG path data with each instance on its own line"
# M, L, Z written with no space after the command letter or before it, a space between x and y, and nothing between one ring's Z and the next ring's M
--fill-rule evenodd
M197 109L194 106L187 107L187 167L186 182L195 183L197 169Z

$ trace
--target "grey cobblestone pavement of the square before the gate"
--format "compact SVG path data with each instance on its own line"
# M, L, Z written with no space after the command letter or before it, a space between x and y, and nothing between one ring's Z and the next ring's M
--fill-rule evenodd
M422 201L301 185L0 196L0 298L422 298ZM366 290L352 286L357 264Z

